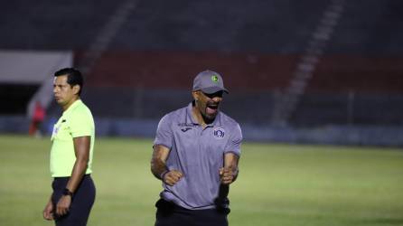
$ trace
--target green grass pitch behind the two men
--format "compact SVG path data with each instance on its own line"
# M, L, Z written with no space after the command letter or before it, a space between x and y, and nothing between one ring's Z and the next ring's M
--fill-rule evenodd
M42 220L50 139L0 136L0 225ZM154 225L161 184L152 140L98 138L89 225ZM230 188L231 226L403 225L403 150L245 143Z

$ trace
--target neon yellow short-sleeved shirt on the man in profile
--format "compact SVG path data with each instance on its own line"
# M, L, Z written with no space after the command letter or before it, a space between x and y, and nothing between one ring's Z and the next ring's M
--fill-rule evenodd
M95 139L94 118L89 108L80 100L74 101L53 127L51 149L52 177L70 176L76 155L74 137L91 137L89 164L85 174L92 173L92 155Z

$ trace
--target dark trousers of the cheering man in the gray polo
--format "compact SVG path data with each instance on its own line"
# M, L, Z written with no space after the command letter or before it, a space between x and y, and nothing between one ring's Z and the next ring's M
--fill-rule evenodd
M184 209L173 202L160 199L155 203L155 226L228 226L226 211L217 209L192 211Z

